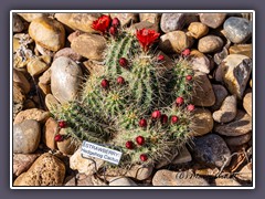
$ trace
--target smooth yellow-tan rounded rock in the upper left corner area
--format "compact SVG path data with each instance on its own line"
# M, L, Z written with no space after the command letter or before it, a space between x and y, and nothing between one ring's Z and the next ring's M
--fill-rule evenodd
M29 27L30 36L41 46L57 51L64 46L64 27L50 18L34 19Z

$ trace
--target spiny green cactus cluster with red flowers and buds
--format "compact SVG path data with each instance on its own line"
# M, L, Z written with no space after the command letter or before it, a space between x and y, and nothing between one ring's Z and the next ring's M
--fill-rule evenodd
M54 116L77 140L119 148L119 166L167 158L190 138L194 81L187 54L167 69L163 55L151 50L156 31L121 30L108 15L93 28L108 40L104 72L88 76L81 100L54 109Z

